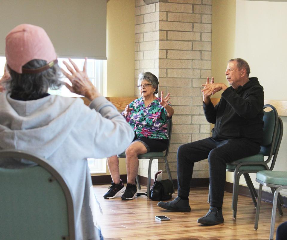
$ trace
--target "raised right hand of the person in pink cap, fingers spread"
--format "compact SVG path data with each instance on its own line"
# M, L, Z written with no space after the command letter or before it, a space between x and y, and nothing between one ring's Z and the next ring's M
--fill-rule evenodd
M78 66L69 58L70 63L73 68L65 61L63 63L66 65L68 71L71 73L68 74L64 69L62 73L70 80L72 86L68 83L65 83L65 86L74 93L79 95L83 95L88 98L90 101L94 100L96 97L100 96L99 91L94 87L93 83L88 78L87 74L87 58L85 58L85 63L83 67L83 71L80 71Z

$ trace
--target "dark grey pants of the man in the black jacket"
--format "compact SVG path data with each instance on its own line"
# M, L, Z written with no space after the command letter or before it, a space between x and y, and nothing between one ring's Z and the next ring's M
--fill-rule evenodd
M208 158L210 205L222 207L226 163L255 155L259 151L260 145L247 139L214 140L209 137L181 145L177 151L178 195L189 196L194 163Z

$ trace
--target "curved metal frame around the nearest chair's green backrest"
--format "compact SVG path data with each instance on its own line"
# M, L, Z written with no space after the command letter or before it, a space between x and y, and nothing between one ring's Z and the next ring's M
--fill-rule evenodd
M75 217L74 217L74 201L71 195L71 189L69 188L68 184L66 183L65 179L58 173L58 171L49 165L42 157L36 156L26 151L19 151L19 150L1 150L0 151L0 158L18 158L18 159L25 159L32 162L35 162L37 165L44 168L48 171L52 177L48 179L48 181L52 182L57 180L59 185L61 186L67 203L67 211L68 211L68 229L69 229L69 236L62 236L62 239L75 239ZM15 226L17 227L17 226ZM48 237L48 236L47 236Z

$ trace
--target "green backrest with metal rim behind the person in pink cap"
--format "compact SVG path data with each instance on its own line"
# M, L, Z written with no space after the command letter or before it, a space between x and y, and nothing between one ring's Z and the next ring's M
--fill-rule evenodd
M35 155L0 151L0 159L8 158L37 165L0 167L0 239L75 239L73 198L65 180Z

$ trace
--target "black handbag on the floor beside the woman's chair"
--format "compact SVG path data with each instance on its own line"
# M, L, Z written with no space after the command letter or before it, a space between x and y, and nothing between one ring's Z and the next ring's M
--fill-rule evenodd
M171 199L174 188L172 181L169 179L155 181L150 190L149 198L153 201L164 201Z

